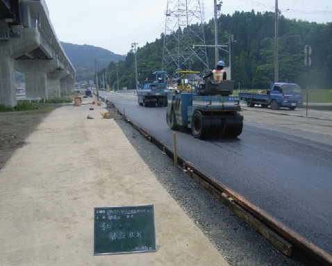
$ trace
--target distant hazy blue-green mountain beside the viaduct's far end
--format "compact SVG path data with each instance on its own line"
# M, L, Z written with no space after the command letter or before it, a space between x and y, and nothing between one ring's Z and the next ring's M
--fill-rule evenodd
M117 62L126 58L126 56L121 56L101 47L94 47L88 44L60 43L76 70L76 81L94 79L94 58L97 59L97 70L107 67L111 61Z

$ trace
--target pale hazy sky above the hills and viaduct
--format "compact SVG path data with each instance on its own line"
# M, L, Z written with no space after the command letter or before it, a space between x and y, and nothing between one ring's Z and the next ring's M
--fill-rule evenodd
M126 55L131 43L139 47L165 32L165 10L171 0L45 0L51 23L61 42L90 44ZM172 0L173 2L176 0ZM184 1L184 0L183 0ZM213 18L213 0L204 3L206 22ZM219 1L217 1L219 3ZM238 11L274 12L275 0L224 0L222 14ZM332 22L331 0L279 0L279 10L288 19Z

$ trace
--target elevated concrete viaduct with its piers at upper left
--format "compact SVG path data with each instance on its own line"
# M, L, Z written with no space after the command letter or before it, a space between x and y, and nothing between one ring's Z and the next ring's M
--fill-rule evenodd
M60 97L74 84L44 0L0 0L0 104L8 107L17 101L15 69L24 74L26 97Z

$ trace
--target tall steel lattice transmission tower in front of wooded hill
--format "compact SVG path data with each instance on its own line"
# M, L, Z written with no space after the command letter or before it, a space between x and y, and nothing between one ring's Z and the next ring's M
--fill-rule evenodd
M163 49L163 70L208 69L204 22L199 0L167 0ZM192 69L195 67L195 69Z

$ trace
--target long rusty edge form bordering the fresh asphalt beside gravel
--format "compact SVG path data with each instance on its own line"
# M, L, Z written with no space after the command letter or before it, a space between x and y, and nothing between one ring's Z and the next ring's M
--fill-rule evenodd
M168 147L166 144L163 144L163 142L158 140L158 138L151 135L149 132L140 128L140 126L138 126L137 124L132 122L130 119L128 119L128 117L126 117L119 109L117 109L116 107L115 107L115 109L117 110L117 112L119 112L120 115L122 115L124 117L124 119L127 122L129 122L129 124L131 124L138 132L140 132L142 135L144 135L145 138L147 138L150 142L153 142L153 144L155 144L159 149L161 149L164 153L166 153L167 156L169 156L169 158L173 158L172 148ZM201 171L199 169L199 167L190 163L190 161L184 160L183 158L181 158L181 156L178 156L178 163L179 163L179 165L183 165L183 167L182 167L183 170L185 170L185 172L187 172L188 175L190 175L191 177L194 176L194 179L196 181L197 181L197 178L201 179L202 181L204 181L204 183L210 185L210 187L213 188L213 190L219 192L219 194L222 194L222 193L226 194L226 197L225 197L226 199L235 201L236 203L238 203L238 205L243 210L245 210L245 212L249 213L249 215L251 215L251 217L253 219L256 219L258 222L263 223L263 227L264 226L266 226L266 227L263 229L257 230L254 226L252 226L252 224L258 224L256 226L259 227L259 223L247 222L248 220L250 220L250 217L248 215L239 215L238 214L238 213L240 213L239 210L235 210L235 208L231 208L231 210L235 214L237 214L241 219L244 220L244 222L247 222L247 224L249 224L256 231L258 231L258 233L263 235L264 238L267 238L267 236L270 235L269 233L262 233L265 231L265 229L276 233L276 235L279 235L282 238L282 240L280 238L278 238L276 235L274 235L273 233L271 234L271 235L273 235L272 236L273 239L271 240L271 238L270 239L267 238L267 240L269 240L269 242L274 244L274 246L277 249L279 249L281 252L283 252L286 256L295 255L298 258L303 258L303 256L305 254L308 254L309 258L306 258L306 259L310 260L311 263L321 263L321 265L325 265L325 266L332 265L332 256L329 253L320 249L312 242L309 242L308 240L303 238L301 235L295 233L290 228L285 226L285 224L279 222L279 220L275 219L274 217L267 214L264 210L255 206L254 204L249 202L247 199L242 197L237 192L226 187L226 185L224 185L221 181L217 180L213 176L210 176L210 174L205 174L203 171ZM188 171L188 168L190 169L189 171ZM199 182L199 183L201 185L203 185L204 188L206 188L204 183L201 183L201 182ZM213 190L212 190L212 192L210 190L208 190L208 191L211 192L211 194L213 194L215 196L215 193L213 193ZM219 197L217 197L217 198L219 199ZM222 202L224 203L224 201L222 201ZM226 204L226 206L229 207L229 204ZM243 210L241 210L241 212L243 212ZM244 212L244 214L245 214L245 212ZM285 240L285 241L283 241L283 240ZM287 242L289 242L291 245L297 247L297 249L295 249L295 250L292 249L292 247L289 246ZM299 250L304 253L300 253ZM296 251L297 253L300 253L300 254L294 254L294 251Z

